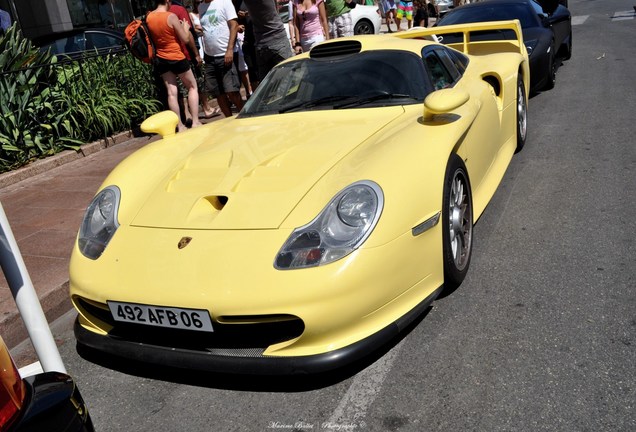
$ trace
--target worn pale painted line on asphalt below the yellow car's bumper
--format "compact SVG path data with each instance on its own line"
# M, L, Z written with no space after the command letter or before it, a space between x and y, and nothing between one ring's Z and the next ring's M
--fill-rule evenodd
M380 394L382 383L403 345L404 339L381 359L356 375L329 420L323 423L323 429L365 426L367 410Z

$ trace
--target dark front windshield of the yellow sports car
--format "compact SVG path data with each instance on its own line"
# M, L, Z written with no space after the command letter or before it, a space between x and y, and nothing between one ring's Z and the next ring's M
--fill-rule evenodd
M239 117L421 103L431 91L425 76L407 51L303 58L272 69Z

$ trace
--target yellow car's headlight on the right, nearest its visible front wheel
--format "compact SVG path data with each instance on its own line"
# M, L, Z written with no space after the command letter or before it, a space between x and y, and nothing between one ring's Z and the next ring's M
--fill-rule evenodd
M383 206L384 195L376 183L360 181L347 186L313 221L291 233L274 267L317 267L349 255L371 234Z

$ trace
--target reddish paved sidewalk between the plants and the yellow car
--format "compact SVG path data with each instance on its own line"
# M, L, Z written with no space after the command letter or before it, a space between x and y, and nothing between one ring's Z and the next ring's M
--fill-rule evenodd
M124 133L0 174L0 203L49 323L71 308L68 266L86 206L115 165L156 139ZM4 274L0 334L10 348L27 336Z

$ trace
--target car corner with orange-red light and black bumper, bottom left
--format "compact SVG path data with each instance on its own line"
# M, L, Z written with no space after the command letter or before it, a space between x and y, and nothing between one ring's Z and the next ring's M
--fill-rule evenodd
M92 432L93 423L73 378L45 372L22 378L0 337L0 430Z

